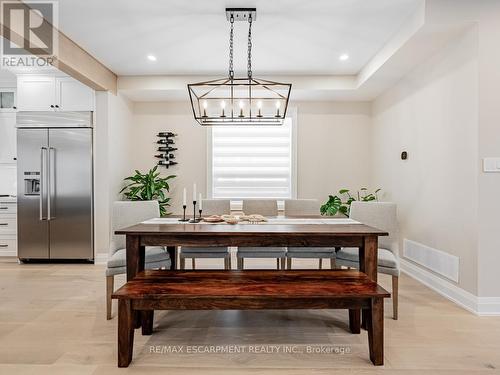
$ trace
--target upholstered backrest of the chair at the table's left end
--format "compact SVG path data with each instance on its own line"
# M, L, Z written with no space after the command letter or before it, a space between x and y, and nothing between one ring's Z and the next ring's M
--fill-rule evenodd
M160 217L158 201L117 201L113 202L111 219L110 254L125 248L125 236L115 235L115 230L123 229L142 221Z

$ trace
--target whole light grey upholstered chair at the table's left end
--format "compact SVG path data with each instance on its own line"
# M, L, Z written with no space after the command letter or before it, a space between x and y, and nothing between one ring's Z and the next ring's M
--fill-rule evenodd
M125 228L141 221L160 217L157 201L120 201L113 203L111 222L111 245L106 267L106 317L111 319L115 275L127 272L127 251L125 236L115 235L115 230ZM162 246L146 246L145 268L170 268L170 256Z

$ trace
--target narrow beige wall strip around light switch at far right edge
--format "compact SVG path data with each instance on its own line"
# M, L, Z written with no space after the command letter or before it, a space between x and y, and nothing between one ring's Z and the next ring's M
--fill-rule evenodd
M480 8L479 159L500 157L500 2ZM479 173L479 291L500 297L500 173Z

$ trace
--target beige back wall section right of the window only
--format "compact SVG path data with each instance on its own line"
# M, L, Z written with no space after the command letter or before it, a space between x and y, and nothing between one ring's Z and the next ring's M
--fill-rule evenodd
M369 187L369 103L301 102L297 106L297 197L326 201L339 189Z

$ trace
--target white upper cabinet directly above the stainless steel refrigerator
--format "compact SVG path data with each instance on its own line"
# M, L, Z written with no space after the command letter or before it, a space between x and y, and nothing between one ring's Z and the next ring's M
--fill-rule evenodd
M93 111L94 90L71 77L18 75L19 111Z

